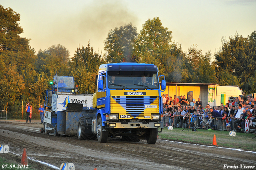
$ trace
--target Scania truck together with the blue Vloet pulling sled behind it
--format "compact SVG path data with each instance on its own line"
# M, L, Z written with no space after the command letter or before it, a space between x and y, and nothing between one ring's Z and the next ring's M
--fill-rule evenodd
M80 94L74 78L54 76L46 90L44 128L41 132L76 135L79 139L107 142L122 136L127 141L146 139L155 144L162 132L162 97L158 68L154 64L102 64L94 94Z

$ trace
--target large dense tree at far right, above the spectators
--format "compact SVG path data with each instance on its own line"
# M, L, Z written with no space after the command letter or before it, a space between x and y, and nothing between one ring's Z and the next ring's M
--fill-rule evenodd
M222 38L222 48L214 56L217 78L221 85L221 80L226 80L229 85L239 85L245 93L252 92L252 82L249 83L249 79L252 80L256 70L255 31L248 37L236 33L234 38L229 37L229 41ZM224 75L226 76L223 77Z

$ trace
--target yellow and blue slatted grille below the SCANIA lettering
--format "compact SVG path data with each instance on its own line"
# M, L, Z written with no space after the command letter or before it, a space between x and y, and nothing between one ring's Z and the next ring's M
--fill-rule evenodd
M144 113L159 113L158 96L112 96L111 113L143 115ZM156 105L157 108L147 108L145 105ZM120 107L121 106L121 107Z

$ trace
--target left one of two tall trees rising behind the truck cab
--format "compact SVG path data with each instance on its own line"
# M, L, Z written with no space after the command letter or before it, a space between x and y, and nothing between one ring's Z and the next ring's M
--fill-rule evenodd
M110 30L106 40L104 40L106 62L134 62L132 53L136 36L137 28L132 26L132 23Z

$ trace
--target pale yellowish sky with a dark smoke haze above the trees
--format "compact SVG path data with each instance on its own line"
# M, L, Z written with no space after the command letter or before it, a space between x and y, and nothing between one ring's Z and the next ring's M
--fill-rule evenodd
M148 19L159 17L172 31L172 42L182 50L196 45L212 57L237 33L250 36L256 30L256 0L0 0L20 14L21 37L30 39L36 53L61 44L74 56L90 45L104 53L104 40L116 27L132 23L137 32Z

